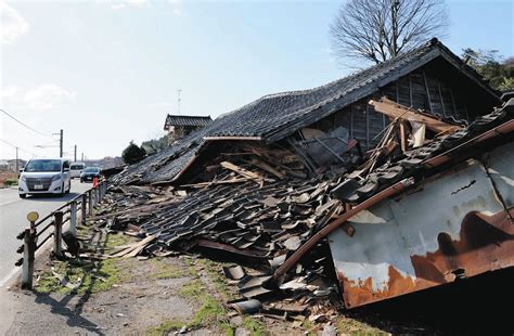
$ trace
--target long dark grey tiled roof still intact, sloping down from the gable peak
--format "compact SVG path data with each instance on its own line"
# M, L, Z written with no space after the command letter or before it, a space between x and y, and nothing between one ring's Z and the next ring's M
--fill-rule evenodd
M237 137L273 143L327 115L375 92L436 57L444 57L497 100L497 93L437 39L324 86L265 95L223 114L206 127L174 143L169 148L131 166L118 177L121 183L174 181L196 157L207 140ZM209 139L210 138L210 139ZM180 159L176 159L180 156Z

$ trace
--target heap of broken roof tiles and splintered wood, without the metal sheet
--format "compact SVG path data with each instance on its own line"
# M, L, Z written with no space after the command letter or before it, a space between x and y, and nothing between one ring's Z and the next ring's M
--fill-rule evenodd
M512 106L466 126L386 99L370 104L390 122L364 160L345 159L311 172L296 146L234 141L196 165L188 183L112 185L97 218L105 219L111 230L143 238L117 251L118 257L176 250L228 257L260 270L223 269L245 298L231 303L236 311L301 314L307 305L340 292L326 235L340 228L351 237L355 228L342 224L352 210L399 181L411 178L407 188L484 152L487 147L476 144L501 133L496 127L507 121L503 141L512 141ZM351 139L347 143L357 147Z

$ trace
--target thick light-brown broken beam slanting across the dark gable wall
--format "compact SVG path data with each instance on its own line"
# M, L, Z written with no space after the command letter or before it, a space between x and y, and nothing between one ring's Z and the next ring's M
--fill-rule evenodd
M386 98L382 98L380 101L371 100L370 105L373 106L376 112L393 118L423 122L426 125L426 128L437 133L453 132L462 129L460 126L447 124L442 120L412 111L400 104L396 104Z

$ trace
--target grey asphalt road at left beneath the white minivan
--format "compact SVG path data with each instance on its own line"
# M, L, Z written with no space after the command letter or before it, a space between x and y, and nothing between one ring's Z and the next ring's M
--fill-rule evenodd
M90 188L91 183L74 180L72 192L65 196L38 195L25 199L20 198L14 188L0 189L0 287L18 269L14 262L22 256L16 254L22 241L16 235L28 227L27 212L38 211L42 218Z

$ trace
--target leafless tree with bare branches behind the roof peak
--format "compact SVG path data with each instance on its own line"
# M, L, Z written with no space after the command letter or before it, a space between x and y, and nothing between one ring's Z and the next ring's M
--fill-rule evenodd
M446 36L448 26L445 0L348 0L330 33L339 60L381 63Z

